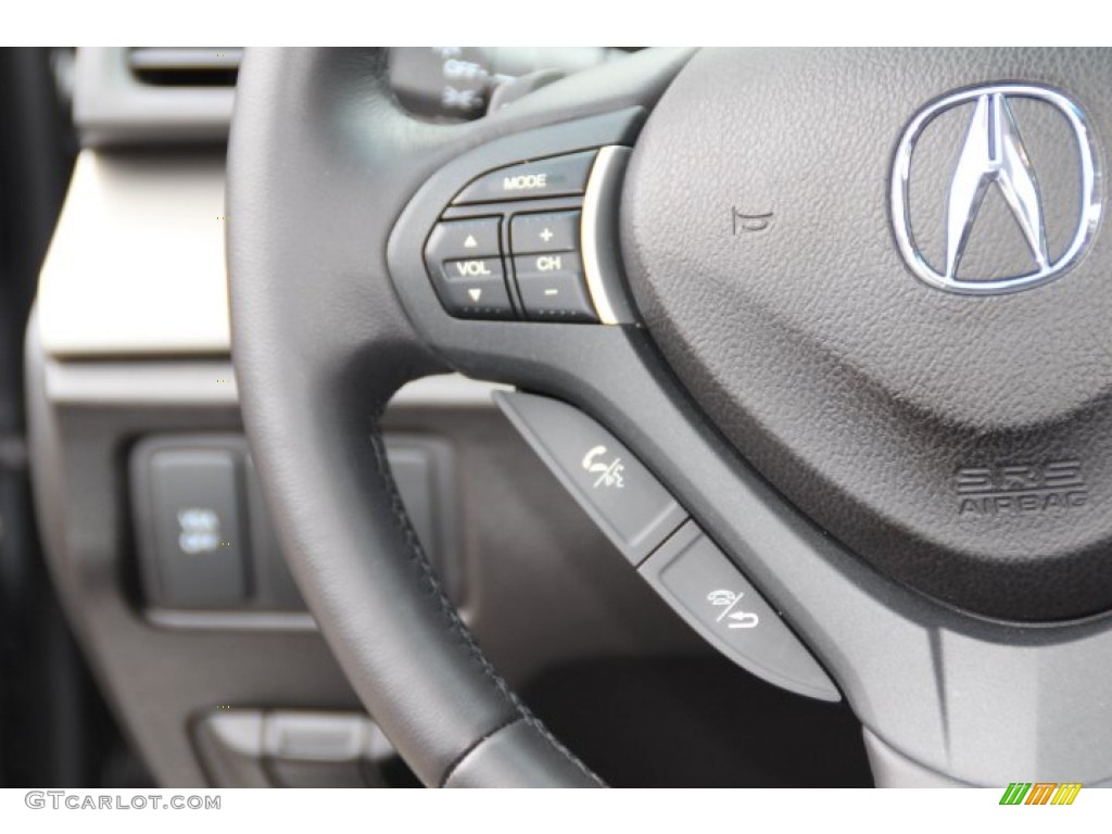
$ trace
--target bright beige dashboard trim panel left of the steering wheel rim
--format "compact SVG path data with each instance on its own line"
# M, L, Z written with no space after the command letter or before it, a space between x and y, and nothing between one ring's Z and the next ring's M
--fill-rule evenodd
M85 150L39 280L48 356L227 355L224 160Z

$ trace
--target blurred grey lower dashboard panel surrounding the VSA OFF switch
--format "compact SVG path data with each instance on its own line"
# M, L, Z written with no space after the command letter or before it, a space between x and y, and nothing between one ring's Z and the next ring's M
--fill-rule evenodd
M34 334L32 326L28 393L49 566L117 717L159 783L222 781L205 772L191 738L218 705L360 709L308 615L236 614L199 626L185 613L145 608L128 453L160 434L241 431L232 389L216 384L221 366L57 363ZM463 610L515 686L584 658L707 654L488 397L479 406L474 396L424 390L409 404L401 397L387 424L456 450Z

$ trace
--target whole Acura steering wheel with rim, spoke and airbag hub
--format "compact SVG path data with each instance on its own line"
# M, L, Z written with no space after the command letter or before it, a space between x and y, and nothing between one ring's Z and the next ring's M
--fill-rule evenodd
M248 52L234 361L298 583L425 784L602 784L393 486L378 418L447 370L620 448L683 523L633 565L677 594L646 566L697 538L736 572L878 785L1112 777L1112 54L645 50L464 125L404 112L387 69ZM578 241L542 262L529 215ZM599 493L612 463L583 457Z

